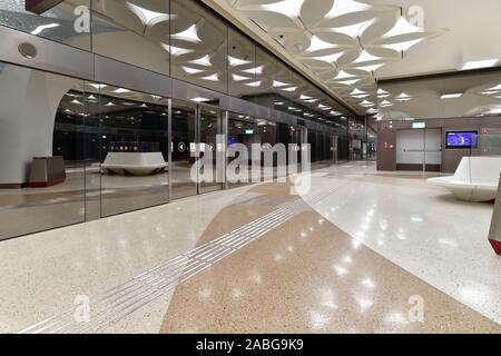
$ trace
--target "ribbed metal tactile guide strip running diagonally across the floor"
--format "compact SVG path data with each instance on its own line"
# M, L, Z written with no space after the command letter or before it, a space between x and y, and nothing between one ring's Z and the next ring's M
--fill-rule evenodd
M180 283L214 266L223 258L242 249L298 215L310 205L320 202L341 188L338 187L327 192L318 192L302 197L302 199L292 202L282 204L277 209L261 218L139 274L120 286L90 298L90 318L88 322L77 322L73 317L76 308L69 308L20 333L77 334L101 332L110 324L120 320L173 290Z

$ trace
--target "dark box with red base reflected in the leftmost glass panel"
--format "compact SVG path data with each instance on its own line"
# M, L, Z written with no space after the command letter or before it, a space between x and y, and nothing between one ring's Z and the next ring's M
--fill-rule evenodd
M35 157L30 167L31 188L45 188L66 180L65 160L62 157Z

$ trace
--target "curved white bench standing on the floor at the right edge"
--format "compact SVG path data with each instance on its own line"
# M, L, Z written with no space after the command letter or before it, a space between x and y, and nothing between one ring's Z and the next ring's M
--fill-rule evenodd
M454 176L430 178L430 184L449 189L458 199L492 201L501 174L501 157L463 157Z

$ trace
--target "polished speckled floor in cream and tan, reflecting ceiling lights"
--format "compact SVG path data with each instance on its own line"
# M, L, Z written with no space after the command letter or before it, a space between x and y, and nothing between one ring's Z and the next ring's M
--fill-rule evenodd
M0 328L61 320L76 296L95 300L146 271L159 280L183 270L189 278L140 308L107 318L117 307L107 304L89 325L108 333L499 333L501 260L487 240L492 206L459 202L428 177L348 162L314 171L303 196L288 182L249 185L2 241ZM158 273L181 256L200 258ZM147 295L154 285L140 288Z

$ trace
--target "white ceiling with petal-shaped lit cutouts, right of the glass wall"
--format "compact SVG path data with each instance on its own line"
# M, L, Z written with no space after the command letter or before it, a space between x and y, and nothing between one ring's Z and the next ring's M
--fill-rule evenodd
M499 0L204 1L358 113L366 112L363 100L381 101L376 79L445 72L465 61L501 58L501 41L494 40L501 33ZM420 41L405 51L387 46L414 40ZM361 70L372 65L384 66ZM369 97L353 97L354 89Z

